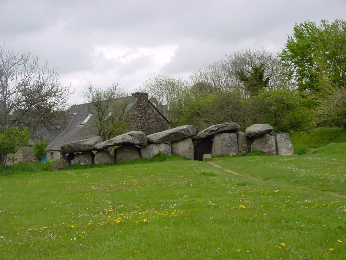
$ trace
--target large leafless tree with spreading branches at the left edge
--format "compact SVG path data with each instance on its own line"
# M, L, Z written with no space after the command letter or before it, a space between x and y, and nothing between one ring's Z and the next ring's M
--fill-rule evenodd
M63 116L71 86L31 52L15 53L0 46L0 131L10 127L53 128Z

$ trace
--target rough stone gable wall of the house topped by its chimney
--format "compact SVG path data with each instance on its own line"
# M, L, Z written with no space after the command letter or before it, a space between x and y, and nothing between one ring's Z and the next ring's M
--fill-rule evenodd
M169 123L157 112L148 101L148 93L133 93L132 96L137 98L137 104L131 110L132 122L131 128L145 132L146 135L161 132L169 129Z

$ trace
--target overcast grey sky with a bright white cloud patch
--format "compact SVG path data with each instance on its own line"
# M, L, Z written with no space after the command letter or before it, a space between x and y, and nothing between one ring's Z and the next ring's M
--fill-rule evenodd
M345 16L346 0L0 0L0 43L48 60L82 103L83 85L188 79L240 49L277 53L295 23Z

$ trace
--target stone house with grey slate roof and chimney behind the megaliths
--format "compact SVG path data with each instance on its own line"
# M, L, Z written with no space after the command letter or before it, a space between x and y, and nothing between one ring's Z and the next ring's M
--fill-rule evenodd
M145 132L146 135L161 132L170 128L170 122L166 117L149 101L148 93L136 92L131 96L118 98L114 102L126 101L126 113L131 114L131 120L128 122L131 131L138 130ZM65 155L61 153L61 146L77 140L93 137L88 130L88 124L91 122L93 112L90 104L73 105L65 112L65 120L56 130L46 128L38 129L29 140L29 146L15 154L19 161L36 161L33 156L32 146L34 141L39 141L43 136L49 139L47 154L45 160L52 161L60 159Z

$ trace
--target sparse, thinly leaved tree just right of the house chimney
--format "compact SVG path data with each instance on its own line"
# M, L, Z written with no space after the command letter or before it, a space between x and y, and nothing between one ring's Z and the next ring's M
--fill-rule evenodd
M154 105L171 122L171 127L179 126L182 110L188 100L189 84L180 78L155 75L143 83L140 91L148 92Z

